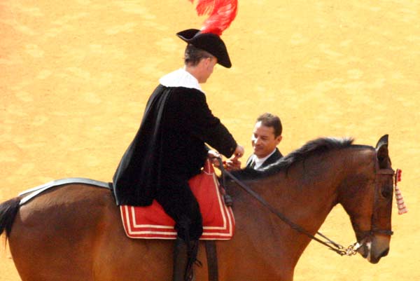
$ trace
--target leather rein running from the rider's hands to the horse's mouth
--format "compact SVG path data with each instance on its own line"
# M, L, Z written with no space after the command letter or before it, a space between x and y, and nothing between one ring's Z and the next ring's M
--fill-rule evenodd
M357 249L362 246L358 242L355 242L352 245L350 245L349 247L344 247L344 246L339 245L338 243L330 240L328 237L326 237L325 235L323 235L322 233L320 233L318 231L316 232L315 235L321 236L326 241L323 241L319 238L316 238L314 235L311 235L311 233L309 233L307 230L302 228L302 226L300 226L298 224L295 224L293 221L290 221L290 219L288 219L285 215L283 215L281 212L279 212L274 207L272 207L272 205L269 205L269 203L267 203L267 201L264 198L262 198L258 193L253 191L249 186L246 186L246 184L244 184L242 181L240 181L232 173L225 170L225 168L223 167L223 162L222 162L221 158L217 157L216 159L219 162L219 168L221 169L221 172L222 172L222 184L223 184L223 187L225 189L226 189L226 176L228 176L228 177L230 177L230 179L235 181L236 184L241 186L242 189L244 189L247 193L249 193L251 196L253 196L253 198L255 198L262 205L264 205L270 212L272 212L277 217L279 217L282 221L284 221L286 224L288 224L288 226L293 228L295 231L300 232L304 235L307 235L307 237L311 238L311 240L315 240L316 242L319 242L322 245L325 245L330 250L336 252L340 256L353 256L357 253L356 252ZM381 169L377 172L377 174L394 174L394 172L393 172L392 169ZM372 231L370 231L370 233L383 233L383 234L386 234L386 235L392 235L392 231L372 230Z

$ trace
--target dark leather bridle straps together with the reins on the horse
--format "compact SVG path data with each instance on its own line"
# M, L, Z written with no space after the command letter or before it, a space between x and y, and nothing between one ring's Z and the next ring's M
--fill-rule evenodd
M330 240L329 238L327 238L325 235L323 235L320 232L316 232L315 235L319 235L322 238L324 238L325 240L321 240L320 238L317 238L316 236L312 235L311 233L309 233L309 231L305 230L304 228L302 228L302 226L295 224L293 221L290 221L290 219L288 219L285 215L283 215L281 212L279 212L278 210L276 210L274 207L272 207L272 205L269 205L269 203L267 203L267 201L262 198L258 193L256 193L255 191L253 191L249 186L246 186L246 184L244 184L242 181L240 181L237 177L235 177L232 173L230 173L229 171L225 170L225 168L223 167L223 161L220 157L216 158L219 162L219 168L221 169L222 172L222 186L225 189L225 192L227 193L226 190L226 177L230 177L230 179L232 179L232 181L235 181L236 184L238 184L242 189L244 189L247 193L249 193L251 196L253 196L253 198L255 198L256 200L258 200L262 205L264 205L270 212L272 212L273 214L275 214L277 217L279 217L282 221L284 221L286 224L288 224L288 226L290 226L291 228L293 228L295 231L298 231L304 235L307 235L307 237L311 238L311 240L315 240L316 242L321 243L322 245L324 245L325 247L328 247L330 250L336 252L337 254L339 254L340 256L353 256L357 253L357 249L363 246L363 242L361 244L359 244L359 242L355 242L352 245L350 245L349 247L344 247L342 245L339 245L338 243ZM386 168L386 169L379 169L379 165L377 163L377 159L375 158L375 170L376 170L376 177L375 177L375 191L374 191L374 204L373 204L373 208L375 207L375 203L377 200L377 196L378 196L378 180L377 180L377 176L379 174L391 174L393 176L395 176L395 171L391 168ZM228 196L229 197L229 196ZM232 200L232 199L229 199ZM363 233L363 240L368 236L368 235L374 235L374 234L382 234L382 235L393 235L393 231L391 231L390 229L377 229L374 228L374 216L373 216L374 212L372 212L372 224L371 224L371 229L370 231L363 231L363 232L359 232L359 233Z

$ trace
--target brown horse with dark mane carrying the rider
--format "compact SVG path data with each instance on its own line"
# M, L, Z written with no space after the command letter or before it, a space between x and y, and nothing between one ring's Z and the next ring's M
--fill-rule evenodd
M371 263L388 254L393 171L388 137L376 149L351 139L316 139L262 172L238 172L290 221L311 234L338 203L349 214L358 249ZM236 220L232 240L218 241L220 280L293 280L310 242L230 182ZM109 190L83 184L52 188L19 207L0 205L0 233L24 281L170 280L173 241L132 240ZM204 246L196 280L207 280Z

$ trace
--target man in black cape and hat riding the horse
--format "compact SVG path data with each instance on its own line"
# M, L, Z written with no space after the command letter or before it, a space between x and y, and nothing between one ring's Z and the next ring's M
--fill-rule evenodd
M235 142L207 105L200 83L216 63L231 62L220 36L188 29L177 34L188 43L184 64L162 78L148 100L137 135L113 177L118 205L147 206L157 200L175 221L173 280L190 280L202 235L202 216L188 179L200 173L214 147L236 160L244 148Z

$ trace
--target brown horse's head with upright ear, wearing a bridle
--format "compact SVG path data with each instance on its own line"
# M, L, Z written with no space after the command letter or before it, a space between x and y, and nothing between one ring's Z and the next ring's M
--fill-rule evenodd
M365 157L364 161L369 165L360 167L346 181L344 186L348 190L340 195L340 203L351 217L360 245L357 252L370 263L378 263L388 254L393 234L391 210L395 172L388 156L388 135L379 139L375 149L360 153L360 157Z

